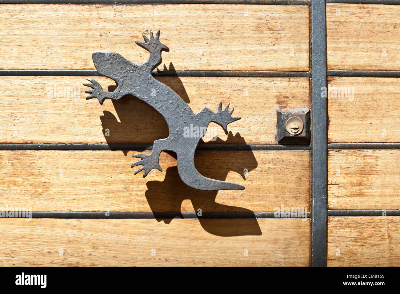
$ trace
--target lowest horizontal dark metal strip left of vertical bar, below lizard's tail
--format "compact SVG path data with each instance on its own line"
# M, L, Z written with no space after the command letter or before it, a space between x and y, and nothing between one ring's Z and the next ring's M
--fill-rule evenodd
M309 218L310 213L290 212L281 214L276 212L203 212L198 216L196 212L30 212L26 218Z

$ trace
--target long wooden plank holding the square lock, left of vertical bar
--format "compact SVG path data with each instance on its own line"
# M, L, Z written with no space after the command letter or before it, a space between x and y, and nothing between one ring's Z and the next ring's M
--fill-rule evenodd
M104 89L115 85L108 78L92 78ZM204 139L220 138L214 143L276 144L276 110L310 107L308 78L158 79L189 102L195 113L204 107L216 111L220 101L235 108L234 116L242 119L228 130L241 136L226 136L212 123ZM168 136L164 118L148 104L126 97L100 106L97 99L85 100L84 82L86 77L2 77L1 143L152 144Z

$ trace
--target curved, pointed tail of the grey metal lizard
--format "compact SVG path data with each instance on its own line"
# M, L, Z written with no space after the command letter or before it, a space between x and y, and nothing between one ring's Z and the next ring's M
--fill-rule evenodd
M202 176L194 166L194 154L192 156L184 156L183 158L179 158L178 156L178 173L186 185L198 190L244 190L244 186L242 185L213 180Z

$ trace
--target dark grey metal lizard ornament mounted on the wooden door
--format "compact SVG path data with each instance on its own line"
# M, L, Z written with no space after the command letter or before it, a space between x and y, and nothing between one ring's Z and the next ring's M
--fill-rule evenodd
M87 79L89 83L84 84L92 88L86 93L90 95L86 99L97 98L102 105L104 99L118 100L123 96L131 94L152 106L160 112L168 124L168 138L156 140L153 144L151 154L139 153L133 157L141 158L132 164L132 167L142 165L135 174L144 170L143 177L153 168L162 172L158 159L163 150L174 151L178 160L178 172L182 181L199 190L243 190L244 186L230 182L213 180L202 176L194 166L194 152L200 138L185 133L185 127L198 130L206 130L210 122L219 124L228 134L227 125L240 118L232 117L228 111L229 104L222 109L219 103L217 112L204 108L198 114L194 114L188 104L182 100L170 87L159 82L152 76L152 71L161 64L161 52L169 51L169 48L160 43L160 31L154 38L150 31L150 40L144 35L144 42L136 41L136 44L150 52L150 58L143 64L134 64L114 52L94 52L92 54L94 66L102 75L114 80L117 88L113 92L104 91L98 82Z

